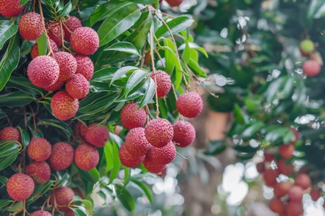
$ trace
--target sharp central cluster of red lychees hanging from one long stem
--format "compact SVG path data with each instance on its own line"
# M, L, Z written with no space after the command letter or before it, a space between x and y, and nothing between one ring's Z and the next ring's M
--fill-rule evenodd
M156 80L157 96L165 97L172 85L170 76L156 70L151 77ZM194 118L202 112L203 101L196 92L187 92L178 97L176 107L179 114ZM194 127L187 121L172 125L166 119L156 118L146 124L147 113L137 103L125 105L120 118L129 129L119 151L120 161L127 167L137 167L143 162L148 171L164 173L166 165L176 156L176 147L187 147L196 137Z

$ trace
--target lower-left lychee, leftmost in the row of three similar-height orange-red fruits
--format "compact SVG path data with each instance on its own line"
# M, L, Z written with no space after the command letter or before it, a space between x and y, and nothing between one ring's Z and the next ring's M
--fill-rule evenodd
M32 138L28 145L28 156L35 161L47 160L52 152L50 142L44 138Z

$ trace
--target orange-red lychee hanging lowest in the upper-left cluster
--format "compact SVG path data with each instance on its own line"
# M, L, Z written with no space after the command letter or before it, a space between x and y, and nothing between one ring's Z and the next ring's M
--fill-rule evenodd
M55 93L51 101L51 110L54 116L62 121L71 119L79 109L79 101L65 91Z

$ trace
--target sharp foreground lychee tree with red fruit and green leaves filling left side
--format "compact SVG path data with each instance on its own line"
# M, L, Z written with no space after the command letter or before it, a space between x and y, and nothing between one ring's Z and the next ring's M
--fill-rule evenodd
M143 177L165 175L203 109L191 16L157 0L0 0L0 14L1 214L90 215L94 189L152 202Z

